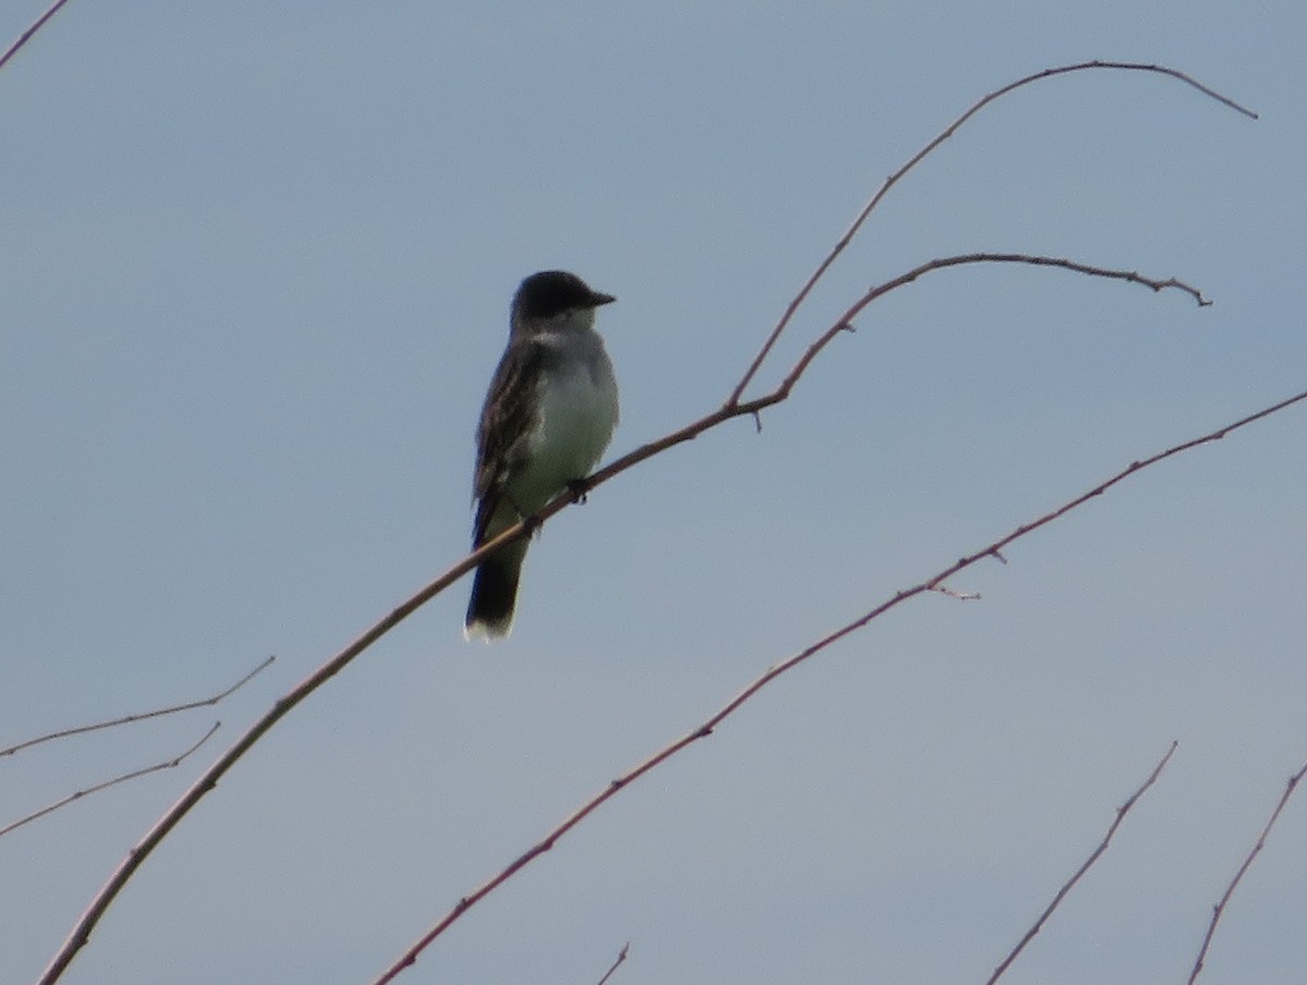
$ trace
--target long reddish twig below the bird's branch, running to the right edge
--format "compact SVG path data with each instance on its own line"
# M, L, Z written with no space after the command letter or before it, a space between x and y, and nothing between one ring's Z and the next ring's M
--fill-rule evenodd
M480 903L485 896L488 896L490 892L493 892L494 890L497 890L502 883L505 883L507 879L510 879L512 875L515 875L519 870L524 869L528 863L533 862L536 858L538 858L540 855L542 855L545 852L549 852L554 846L554 844L558 841L558 838L561 838L563 835L566 835L569 831L571 831L574 827L576 827L582 820L584 820L589 814L592 814L595 810L597 810L609 798L614 797L618 790L623 789L625 786L627 786L629 784L631 784L634 780L638 780L639 777L644 776L651 769L654 769L655 767L660 765L665 760L670 759L672 756L674 756L676 753L678 753L681 750L686 748L687 746L691 746L693 743L698 742L699 739L704 739L708 735L712 735L714 730L725 718L728 718L731 714L733 714L741 705L744 705L745 701L748 701L750 697L753 697L754 695L757 695L759 691L762 691L767 684L770 684L776 678L779 678L783 674L793 670L800 663L804 663L805 661L808 661L809 658L812 658L816 654L821 653L826 648L831 646L833 644L838 642L839 640L843 640L846 636L850 636L851 633L857 632L859 629L861 629L863 627L865 627L872 620L878 619L880 616L882 616L886 612L889 612L891 608L902 604L903 602L907 602L910 598L915 598L916 595L921 595L924 593L936 591L940 585L946 583L958 572L961 572L961 570L963 570L966 568L970 568L971 565L974 565L974 564L976 564L979 561L983 561L987 557L1000 557L1002 549L1008 544L1010 544L1012 542L1018 540L1018 539L1026 536L1027 534L1030 534L1030 532L1033 532L1035 530L1039 530L1040 527L1043 527L1043 526L1046 526L1048 523L1052 523L1055 519L1059 519L1060 517L1064 517L1065 514L1070 513L1076 508L1085 505L1086 502L1089 502L1094 497L1102 496L1104 492L1107 492L1108 489L1111 489L1114 485L1116 485L1120 481L1124 481L1125 479L1128 479L1129 476L1134 475L1136 472L1138 472L1138 471L1141 471L1144 468L1148 468L1149 466L1157 464L1158 462L1162 462L1163 459L1171 458L1172 455L1178 455L1182 451L1187 451L1189 449L1195 449L1195 447L1197 447L1200 445L1206 445L1208 442L1212 442L1212 441L1218 441L1218 440L1223 438L1226 434L1230 434L1231 432L1235 432L1235 430L1238 430L1240 428L1246 428L1247 425L1249 425L1249 424L1252 424L1255 421L1259 421L1263 417L1268 417L1268 416L1270 416L1270 415L1273 415L1273 413L1276 413L1278 411L1285 409L1286 407L1290 407L1290 406L1297 404L1297 403L1303 402L1303 400L1307 400L1307 391L1303 391L1300 394L1290 396L1290 398L1287 398L1285 400L1281 400L1281 402L1278 402L1276 404L1272 404L1270 407L1265 407L1265 408L1263 408L1263 409L1260 409L1260 411L1257 411L1255 413L1248 415L1247 417L1242 417L1238 421L1233 421L1231 424L1226 424L1226 425L1223 425L1221 428L1217 428L1213 432L1208 432L1206 434L1202 434L1202 436L1200 436L1197 438L1191 438L1189 441L1184 441L1184 442L1182 442L1179 445L1174 445L1174 446L1166 449L1165 451L1159 451L1159 453L1157 453L1154 455L1150 455L1149 458L1140 459L1137 462L1132 462L1128 467L1123 468L1120 472L1117 472L1116 475L1111 476L1110 479L1106 479L1104 481L1099 483L1098 485L1095 485L1089 492L1085 492L1085 493L1077 496L1073 500L1068 500L1061 506L1057 506L1056 509L1052 509L1048 513L1044 513L1042 517L1039 517L1036 519L1033 519L1029 523L1021 525L1019 527L1017 527L1016 530L1013 530L1010 534L1008 534L1008 535L1005 535L1005 536L995 540L992 544L988 544L987 547L983 547L979 551L975 551L975 552L972 552L970 555L966 555L965 557L961 557L959 560L954 561L948 568L945 568L944 570L941 570L938 574L936 574L936 576L933 576L931 578L927 578L925 581L918 582L916 585L914 585L910 589L903 589L903 590L898 591L891 598L889 598L885 602L880 603L878 606L876 606L874 608L869 610L868 612L864 612L857 619L855 619L855 620L852 620L850 623L846 623L839 629L835 629L834 632L823 636L821 640L818 640L817 642L814 642L814 644L804 648L799 653L795 653L791 657L787 657L780 663L772 665L771 667L767 668L767 671L765 674L762 674L752 684L749 684L744 691L741 691L738 695L736 695L721 709L719 709L716 712L716 714L714 714L711 718L708 718L698 729L694 729L694 730L686 733L680 739L676 739L670 744L668 744L664 748L661 748L659 752L655 752L652 756L650 756L648 759L646 759L643 763L640 763L635 768L627 770L626 773L623 773L622 776L620 776L617 780L612 781L600 793L595 794L589 801L587 801L579 808L576 808L572 814L570 814L561 824L558 824L557 827L554 827L548 835L545 835L545 837L542 837L540 841L537 841L535 845L532 845L529 849L527 849L525 853L523 853L516 859L514 859L512 862L510 862L497 875L494 875L493 878L488 879L485 883L482 883L481 886L478 886L471 893L468 893L467 896L464 896L463 899L460 899L454 905L454 908L448 913L446 913L444 917L442 917L430 930L427 930L425 934L422 934L422 937L418 938L417 942L412 947L409 947L408 951L405 951L404 955L397 961L395 961L380 977L375 978L374 982L372 982L372 985L386 985L386 982L392 981L396 975L399 975L406 967L409 967L410 964L413 964L417 960L417 956L433 941L435 941L435 938L438 938L440 934L443 934L456 920L459 920L459 917L461 917L464 913L467 913L468 909L471 909L474 904Z

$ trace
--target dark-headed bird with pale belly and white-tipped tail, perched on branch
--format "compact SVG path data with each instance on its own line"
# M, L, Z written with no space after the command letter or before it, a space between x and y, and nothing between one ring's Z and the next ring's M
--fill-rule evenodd
M508 347L477 428L473 548L584 479L617 426L617 378L595 331L595 309L616 301L575 273L532 273L518 288ZM512 628L527 538L477 568L463 624L486 642Z

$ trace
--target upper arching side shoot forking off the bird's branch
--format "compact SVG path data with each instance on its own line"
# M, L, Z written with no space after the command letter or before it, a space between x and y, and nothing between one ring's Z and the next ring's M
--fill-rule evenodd
M1099 61L1095 59L1093 61L1081 61L1080 64L1074 65L1059 65L1057 68L1046 68L1044 71L1035 72L1034 75L1029 75L1025 78L1018 78L1017 81L1009 82L1008 85L1002 86L1001 89L995 89L988 95L972 103L971 109L968 109L955 120L953 120L953 123L950 123L938 136L936 136L935 140L932 140L929 144L918 150L907 161L907 164L904 164L897 171L894 171L894 174L891 174L889 178L885 179L881 187L872 196L870 201L868 201L867 205L863 207L863 211L857 213L857 217L853 218L853 222L848 226L848 229L844 230L844 234L835 242L835 246L831 247L831 251L826 255L826 259L823 259L817 266L817 269L813 271L812 276L808 277L808 281L802 285L802 288L800 288L799 293L795 294L789 305L786 306L786 310L780 315L780 320L776 322L776 326L771 330L771 335L767 336L767 340L762 344L762 348L758 351L758 354L754 356L753 362L749 364L749 369L745 370L744 377L741 377L740 382L736 383L735 390L731 391L731 396L727 398L725 406L733 407L736 403L740 402L740 399L744 396L744 391L749 387L749 383L753 382L753 378L758 374L758 370L762 368L762 364L766 361L767 356L771 353L771 349L775 347L776 340L780 339L782 332L786 331L786 327L793 319L795 313L799 310L799 306L808 300L808 294L812 293L812 289L817 285L817 281L821 280L822 276L825 276L826 271L830 269L830 266L835 262L835 259L842 252L844 252L844 249L853 241L853 237L857 235L857 232L863 228L863 224L867 221L868 216L872 215L872 211L881 204L881 199L885 198L885 195L889 192L890 188L898 184L899 179L902 179L903 175L906 175L908 171L916 167L923 158L925 158L932 150L940 147L940 144L942 144L945 140L957 133L958 130L962 127L962 124L965 124L968 119L971 119L974 115L976 115L980 110L983 110L995 99L1006 95L1014 89L1030 85L1031 82L1039 82L1044 78L1052 78L1053 76L1063 76L1070 72L1084 72L1086 69L1097 69L1097 68L1107 68L1114 71L1132 71L1132 72L1153 72L1157 75L1170 76L1171 78L1176 78L1184 82L1185 85L1193 86L1204 95L1216 99L1217 102L1223 103L1230 109L1236 110L1238 112L1242 112L1244 116L1251 116L1252 119L1257 119L1257 114L1253 112L1252 110L1240 106L1234 99L1230 99L1229 97L1225 97L1221 93L1218 93L1216 89L1210 89L1209 86L1202 85L1202 82L1197 81L1192 76L1185 75L1184 72L1176 71L1174 68L1167 68L1165 65L1148 65L1134 61Z

